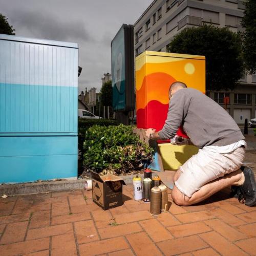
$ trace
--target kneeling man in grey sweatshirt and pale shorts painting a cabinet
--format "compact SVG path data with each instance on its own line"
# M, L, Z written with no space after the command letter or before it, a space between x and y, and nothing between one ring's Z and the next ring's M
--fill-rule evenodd
M174 176L174 202L195 204L231 186L239 201L255 205L256 183L251 168L242 166L246 142L237 123L214 100L187 88L183 82L170 86L169 99L163 129L147 129L146 136L183 144L175 136L183 126L191 143L199 147L198 154L188 159Z

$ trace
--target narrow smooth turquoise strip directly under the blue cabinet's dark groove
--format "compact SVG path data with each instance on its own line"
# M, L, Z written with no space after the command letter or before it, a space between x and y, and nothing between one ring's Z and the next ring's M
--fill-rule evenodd
M77 155L77 136L0 137L0 157L42 155Z

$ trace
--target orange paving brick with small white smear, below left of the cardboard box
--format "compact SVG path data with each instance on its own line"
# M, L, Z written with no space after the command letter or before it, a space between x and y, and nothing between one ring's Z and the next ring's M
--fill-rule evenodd
M75 222L74 225L78 244L99 240L92 220Z

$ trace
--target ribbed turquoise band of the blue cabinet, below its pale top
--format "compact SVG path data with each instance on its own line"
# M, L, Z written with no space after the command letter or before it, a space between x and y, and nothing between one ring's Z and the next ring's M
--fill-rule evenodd
M77 87L0 83L0 133L77 133Z

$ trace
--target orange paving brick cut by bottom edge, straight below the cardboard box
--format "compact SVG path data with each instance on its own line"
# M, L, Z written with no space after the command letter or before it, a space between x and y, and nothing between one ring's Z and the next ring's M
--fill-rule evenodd
M118 250L129 249L129 245L124 238L111 238L102 241L96 241L87 244L79 245L80 255L97 255L102 253L109 253Z

